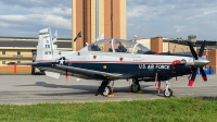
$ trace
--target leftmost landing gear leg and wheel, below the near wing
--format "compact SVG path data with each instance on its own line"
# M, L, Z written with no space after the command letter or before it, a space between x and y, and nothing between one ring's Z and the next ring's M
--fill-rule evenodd
M108 80L104 80L101 83L101 86L98 88L98 94L97 95L103 95L103 96L108 96L112 93L112 88L111 86L108 86L110 81Z

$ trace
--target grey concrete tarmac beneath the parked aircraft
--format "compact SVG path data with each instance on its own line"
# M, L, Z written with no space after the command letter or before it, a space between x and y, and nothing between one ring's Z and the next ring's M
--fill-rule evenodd
M203 82L197 75L193 87L188 86L188 76L170 80L170 88L175 97L182 96L217 96L217 75L207 75L208 82ZM44 75L0 75L0 105L15 103L29 105L39 102L89 102L89 101L118 101L136 99L164 98L157 95L154 82L141 82L143 94L128 93L129 82L122 80L114 82L114 98L98 97L94 94L101 81L79 80L61 76L60 80ZM162 93L165 83L162 83Z

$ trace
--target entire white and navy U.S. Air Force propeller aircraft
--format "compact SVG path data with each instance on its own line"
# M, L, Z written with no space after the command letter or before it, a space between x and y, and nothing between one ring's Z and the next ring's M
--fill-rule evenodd
M48 41L47 30L40 30L37 47L37 60L29 63L44 70L48 76L60 74L87 80L101 80L98 94L107 96L112 93L110 82L115 80L132 80L131 90L140 90L139 82L166 82L164 96L169 97L173 90L168 81L173 77L191 74L189 86L192 86L200 69L204 81L207 81L203 66L209 61L202 58L205 41L199 56L189 42L193 57L182 54L153 52L141 44L123 39L103 39L90 44L79 51L58 56Z

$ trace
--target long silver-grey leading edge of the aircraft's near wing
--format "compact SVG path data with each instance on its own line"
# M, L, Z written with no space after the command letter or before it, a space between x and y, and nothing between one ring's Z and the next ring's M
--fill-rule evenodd
M75 68L75 66L66 66L66 65L61 65L61 64L56 64L55 66L62 70L67 69L68 71L73 73L87 74L87 75L100 75L104 77L116 77L116 78L123 75L123 74L117 74L117 73L106 73L106 72L101 72L101 71L87 70L87 69L80 69L80 68Z

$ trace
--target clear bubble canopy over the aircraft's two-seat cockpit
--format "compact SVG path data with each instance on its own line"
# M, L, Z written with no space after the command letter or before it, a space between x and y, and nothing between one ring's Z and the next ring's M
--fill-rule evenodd
M89 51L145 53L151 51L141 44L124 39L103 39L88 46Z

